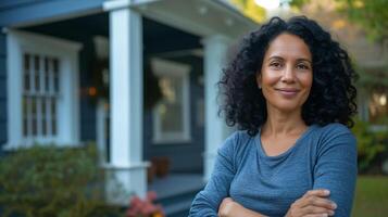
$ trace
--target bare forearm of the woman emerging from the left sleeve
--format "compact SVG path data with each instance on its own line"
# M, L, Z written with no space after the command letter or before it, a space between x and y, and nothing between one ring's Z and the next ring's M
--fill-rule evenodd
M218 208L220 217L264 217L263 215L243 207L230 197L226 197Z

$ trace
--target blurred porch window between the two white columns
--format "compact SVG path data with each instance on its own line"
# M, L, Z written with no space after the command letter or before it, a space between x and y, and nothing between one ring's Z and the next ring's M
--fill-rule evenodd
M153 110L153 141L190 141L189 71L185 64L154 59L153 73L159 77L162 100Z

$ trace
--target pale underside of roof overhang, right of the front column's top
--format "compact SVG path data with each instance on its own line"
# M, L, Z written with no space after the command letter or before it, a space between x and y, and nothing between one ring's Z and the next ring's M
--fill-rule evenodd
M137 1L132 8L146 17L199 36L237 38L259 26L225 0Z

